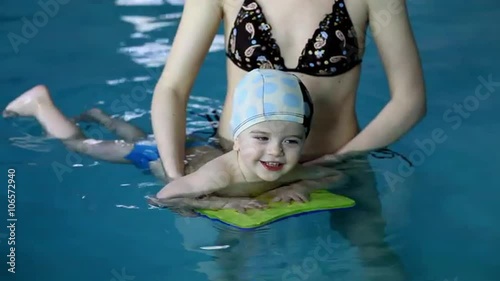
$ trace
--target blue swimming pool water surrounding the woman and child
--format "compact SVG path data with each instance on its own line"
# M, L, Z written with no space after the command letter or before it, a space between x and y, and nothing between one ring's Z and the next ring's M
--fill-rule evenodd
M0 106L44 83L67 115L99 106L151 132L151 94L182 1L59 3L65 4L45 22L38 3L0 3ZM387 241L413 280L498 280L500 38L493 19L500 7L485 0L413 0L408 7L424 65L428 114L392 147L412 160L413 169L398 158L372 159ZM27 22L38 24L28 30ZM12 34L21 43L13 45ZM219 34L193 88L194 112L220 108L223 100L222 29ZM488 80L494 83L488 86ZM387 100L372 43L359 89L361 124ZM190 130L209 126L192 118ZM358 249L330 229L325 213L255 233L180 218L148 207L144 197L161 188L152 176L70 153L44 138L31 119L0 124L1 280L224 280L224 275L229 280L363 280ZM86 130L110 137L95 126ZM6 264L9 168L16 179L15 274ZM328 243L334 254L315 258L314 250ZM294 266L302 273L294 273Z

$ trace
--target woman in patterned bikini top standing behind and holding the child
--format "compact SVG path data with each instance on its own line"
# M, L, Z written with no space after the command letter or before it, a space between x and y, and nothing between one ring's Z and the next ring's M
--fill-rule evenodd
M226 150L232 147L232 93L253 68L293 72L309 89L315 118L301 162L386 147L423 118L425 86L404 0L287 0L284 4L276 0L185 1L152 101L153 130L169 178L184 174L188 96L221 21L227 44L227 95L218 137ZM385 68L391 99L360 130L355 100L367 27L372 29ZM385 224L373 175L352 182L342 193L354 198L359 208L335 213L332 224L359 247L367 267L379 261L398 264L384 243ZM392 274L399 278L383 280L405 280L401 271Z

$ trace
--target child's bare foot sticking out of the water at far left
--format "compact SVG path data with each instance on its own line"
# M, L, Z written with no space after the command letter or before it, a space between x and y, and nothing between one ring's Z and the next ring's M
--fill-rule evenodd
M3 117L33 116L38 106L43 102L50 102L49 90L43 85L38 85L24 92L10 102L2 112Z

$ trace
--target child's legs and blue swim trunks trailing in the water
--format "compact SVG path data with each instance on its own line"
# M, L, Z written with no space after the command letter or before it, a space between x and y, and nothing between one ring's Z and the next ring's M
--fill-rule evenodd
M60 139L68 149L97 160L113 163L131 163L141 170L151 171L160 180L167 182L154 139L148 139L140 128L121 119L111 118L102 110L92 108L71 120L54 105L47 87L38 85L10 102L3 117L35 117L48 135ZM75 122L96 122L103 125L121 140L96 140L86 138ZM189 157L186 169L196 170L207 161L223 152L195 136L188 137L186 154Z

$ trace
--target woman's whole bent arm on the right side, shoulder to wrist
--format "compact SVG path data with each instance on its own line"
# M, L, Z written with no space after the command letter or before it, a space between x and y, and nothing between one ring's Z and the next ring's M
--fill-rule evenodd
M388 146L406 134L426 113L422 66L405 0L367 2L370 27L388 77L391 100L337 154ZM377 21L381 18L383 22Z

